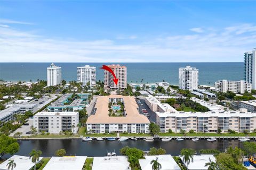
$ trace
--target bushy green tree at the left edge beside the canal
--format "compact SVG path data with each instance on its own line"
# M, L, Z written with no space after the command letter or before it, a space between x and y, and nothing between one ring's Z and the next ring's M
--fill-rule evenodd
M0 158L4 154L15 154L19 151L20 146L16 139L8 137L7 135L0 135Z

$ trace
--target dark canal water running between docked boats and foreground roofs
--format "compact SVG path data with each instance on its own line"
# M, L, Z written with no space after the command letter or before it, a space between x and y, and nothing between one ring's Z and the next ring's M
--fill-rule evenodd
M105 156L107 150L109 152L115 152L119 155L119 149L129 146L148 151L149 148L163 148L167 154L172 156L178 156L180 150L183 148L193 148L198 153L200 149L218 149L220 151L225 150L229 146L231 147L242 147L241 142L238 140L218 139L215 142L207 142L206 140L191 141L162 141L155 140L146 142L144 140L127 140L127 141L90 141L82 142L81 139L37 139L37 140L19 140L20 150L16 155L28 156L29 152L36 148L43 152L43 157L54 156L54 152L57 149L66 149L67 155L78 155L78 156ZM8 158L10 155L5 155Z

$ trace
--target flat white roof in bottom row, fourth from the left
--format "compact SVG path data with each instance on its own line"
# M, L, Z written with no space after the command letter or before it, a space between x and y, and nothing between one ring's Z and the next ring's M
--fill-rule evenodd
M158 158L158 163L161 164L161 170L180 170L179 165L175 162L171 155L153 155L145 156L145 159L140 159L141 170L151 170L152 164L151 160L156 160Z

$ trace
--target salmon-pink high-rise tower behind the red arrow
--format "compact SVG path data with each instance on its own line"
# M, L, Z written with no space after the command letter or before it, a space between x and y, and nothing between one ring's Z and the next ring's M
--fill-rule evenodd
M126 66L112 64L108 65L108 67L110 67L110 69L115 73L116 78L118 78L118 83L116 85L113 80L113 75L109 71L104 70L104 87L109 87L111 89L125 89L127 87Z

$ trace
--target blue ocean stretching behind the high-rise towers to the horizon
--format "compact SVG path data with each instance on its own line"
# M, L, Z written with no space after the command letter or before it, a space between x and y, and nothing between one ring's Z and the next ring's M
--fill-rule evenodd
M46 80L46 67L51 63L0 63L0 79L12 82ZM97 80L103 80L102 64L121 64L127 67L128 83L166 81L178 85L179 67L199 69L199 84L213 86L218 80L243 80L243 63L54 63L62 68L62 80L77 79L77 66L97 67Z

